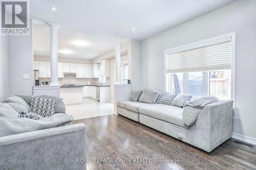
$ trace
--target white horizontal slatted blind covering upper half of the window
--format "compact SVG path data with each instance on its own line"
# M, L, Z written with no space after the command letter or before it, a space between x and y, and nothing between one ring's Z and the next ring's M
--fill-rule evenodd
M166 51L168 73L231 68L231 37Z

